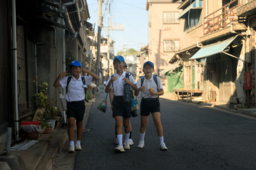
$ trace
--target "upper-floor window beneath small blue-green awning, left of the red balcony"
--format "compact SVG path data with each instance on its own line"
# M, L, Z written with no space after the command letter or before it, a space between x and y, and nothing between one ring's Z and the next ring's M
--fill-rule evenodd
M185 30L202 23L201 12L202 9L195 9L186 14Z

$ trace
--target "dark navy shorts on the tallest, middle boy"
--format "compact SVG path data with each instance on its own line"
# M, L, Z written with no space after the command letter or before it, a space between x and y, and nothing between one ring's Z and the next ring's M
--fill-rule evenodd
M124 118L131 117L131 102L124 102L123 96L114 96L113 101L113 117L122 116Z

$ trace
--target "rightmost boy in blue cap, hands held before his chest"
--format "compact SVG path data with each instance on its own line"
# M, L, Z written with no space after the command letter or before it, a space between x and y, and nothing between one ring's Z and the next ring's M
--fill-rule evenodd
M141 91L140 102L140 142L137 145L138 148L144 147L144 136L146 127L148 125L148 116L151 113L153 116L154 125L157 128L157 135L160 141L160 150L167 150L165 143L163 142L163 127L160 119L160 102L159 96L163 95L163 86L159 77L152 75L154 72L154 64L147 61L143 64L144 77L141 77L137 81L137 90L135 95L138 96Z

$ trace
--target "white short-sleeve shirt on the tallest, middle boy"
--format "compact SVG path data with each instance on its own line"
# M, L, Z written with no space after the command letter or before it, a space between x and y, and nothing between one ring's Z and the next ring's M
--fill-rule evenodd
M114 96L123 96L124 95L124 85L125 82L124 80L122 80L123 78L125 78L125 71L123 71L122 75L119 76L117 73L114 74L114 76L117 77L117 80L113 82L113 86L111 83L111 89L113 89L113 95ZM111 80L111 76L108 77L108 81L106 82L106 85L108 85L108 82ZM129 80L131 81L132 84L136 84L134 78L132 77L132 75L129 76Z

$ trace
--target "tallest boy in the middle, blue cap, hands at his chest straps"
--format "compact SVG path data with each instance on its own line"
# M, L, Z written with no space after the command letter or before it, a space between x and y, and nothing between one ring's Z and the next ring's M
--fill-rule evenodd
M124 152L124 149L130 149L129 136L130 136L130 117L131 117L131 102L124 100L124 85L127 83L134 90L137 90L136 82L132 76L125 77L126 73L123 71L125 59L122 56L115 56L113 65L116 73L113 77L109 77L105 92L108 93L113 89L113 117L115 118L115 131L119 145L114 148L116 152ZM123 117L123 121L122 121ZM122 126L125 127L125 140L124 146L122 144Z

